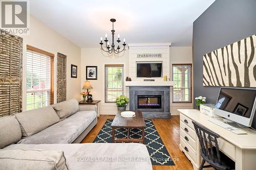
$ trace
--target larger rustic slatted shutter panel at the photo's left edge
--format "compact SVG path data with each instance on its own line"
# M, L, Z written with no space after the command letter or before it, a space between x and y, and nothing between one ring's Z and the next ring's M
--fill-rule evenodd
M23 38L0 31L0 117L2 117L22 111Z

